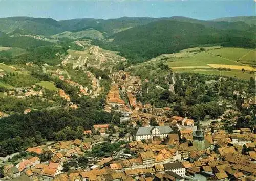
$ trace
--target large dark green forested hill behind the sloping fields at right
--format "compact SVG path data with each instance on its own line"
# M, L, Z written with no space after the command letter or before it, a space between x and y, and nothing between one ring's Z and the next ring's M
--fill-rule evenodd
M220 30L198 23L161 20L114 34L110 46L138 61L205 44L255 47L253 35L250 29Z

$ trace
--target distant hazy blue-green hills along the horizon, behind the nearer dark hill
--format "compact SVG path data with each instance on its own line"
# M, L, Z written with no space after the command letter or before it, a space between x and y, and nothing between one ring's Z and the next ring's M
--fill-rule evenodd
M235 20L236 19L236 20ZM7 34L19 32L21 34L36 34L36 35L54 35L64 31L78 32L86 29L95 29L104 33L106 37L115 33L125 31L141 25L150 24L161 20L176 20L181 22L190 22L203 24L206 27L214 27L216 29L249 29L255 21L255 17L229 18L213 21L202 21L187 17L163 17L163 18L148 18L148 17L121 17L116 19L71 19L56 21L51 18L31 18L31 17L8 17L0 18L0 31ZM221 21L221 22L217 22ZM224 22L227 21L227 22ZM252 23L249 23L252 22Z

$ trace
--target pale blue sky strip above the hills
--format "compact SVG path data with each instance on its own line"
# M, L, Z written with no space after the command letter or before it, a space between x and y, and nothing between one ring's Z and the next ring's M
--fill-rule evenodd
M66 20L185 16L210 20L255 16L256 0L0 0L0 17Z

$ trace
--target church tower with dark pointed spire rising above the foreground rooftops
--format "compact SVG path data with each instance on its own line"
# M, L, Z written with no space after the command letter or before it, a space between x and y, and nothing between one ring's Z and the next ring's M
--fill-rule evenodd
M199 121L197 130L193 131L193 145L197 146L199 151L205 149L204 130L199 125Z

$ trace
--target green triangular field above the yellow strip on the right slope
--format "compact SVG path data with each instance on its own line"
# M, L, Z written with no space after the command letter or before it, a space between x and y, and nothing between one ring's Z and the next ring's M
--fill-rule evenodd
M243 55L247 54L251 49L245 48L221 48L213 49L208 52L214 55L220 55L221 57L238 61Z

